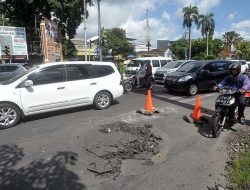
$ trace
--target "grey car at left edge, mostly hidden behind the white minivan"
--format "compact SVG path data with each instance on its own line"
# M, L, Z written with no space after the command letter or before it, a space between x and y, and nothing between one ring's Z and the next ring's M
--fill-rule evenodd
M19 75L26 70L27 69L21 63L0 64L0 82Z

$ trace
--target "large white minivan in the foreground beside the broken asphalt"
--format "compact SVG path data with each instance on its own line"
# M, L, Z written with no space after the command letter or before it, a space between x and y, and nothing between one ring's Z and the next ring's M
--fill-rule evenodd
M123 94L121 75L110 62L37 65L0 83L0 128L21 118L84 105L106 109Z

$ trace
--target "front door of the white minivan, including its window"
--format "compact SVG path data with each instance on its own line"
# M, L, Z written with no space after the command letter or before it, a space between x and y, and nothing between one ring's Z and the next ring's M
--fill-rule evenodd
M27 114L59 109L67 105L67 82L65 66L52 66L28 76L30 87L21 85L20 94Z

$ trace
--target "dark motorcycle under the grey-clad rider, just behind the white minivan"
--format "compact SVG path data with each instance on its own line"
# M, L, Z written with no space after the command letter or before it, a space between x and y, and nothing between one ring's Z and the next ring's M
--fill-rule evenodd
M154 78L151 76L147 80L143 78L139 78L139 84L137 84L137 78L136 75L133 75L129 78L127 78L123 82L123 88L126 92L130 92L135 88L146 88L146 89L152 89L154 87Z

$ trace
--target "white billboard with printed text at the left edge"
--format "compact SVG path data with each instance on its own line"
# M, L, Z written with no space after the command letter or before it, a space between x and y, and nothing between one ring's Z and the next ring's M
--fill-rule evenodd
M3 60L28 59L24 27L0 26L0 57Z

